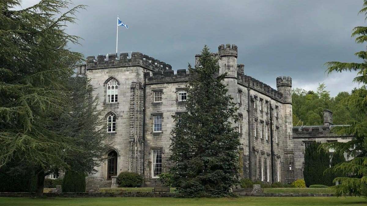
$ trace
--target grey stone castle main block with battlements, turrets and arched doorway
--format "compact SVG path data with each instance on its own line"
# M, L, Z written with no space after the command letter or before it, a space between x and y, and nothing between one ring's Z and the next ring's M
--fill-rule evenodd
M292 139L292 79L277 77L277 90L244 75L237 64L237 46L222 44L218 53L219 73L238 104L238 127L243 155L243 177L267 183L294 180ZM195 55L196 66L200 55ZM160 185L158 176L167 172L170 155L172 114L185 112L186 70L174 74L171 65L139 52L88 56L78 73L91 78L97 88L99 108L105 108L108 141L113 149L108 160L91 176L116 178L120 172L142 174L144 186Z

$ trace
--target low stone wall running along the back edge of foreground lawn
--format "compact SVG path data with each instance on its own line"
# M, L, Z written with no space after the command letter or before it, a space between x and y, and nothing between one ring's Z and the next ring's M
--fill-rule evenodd
M239 196L257 196L257 197L332 197L333 194L309 194L309 193L251 193L236 192ZM35 197L34 192L0 192L0 197L29 198ZM174 192L61 192L61 193L44 193L44 197L48 198L166 198L175 197Z

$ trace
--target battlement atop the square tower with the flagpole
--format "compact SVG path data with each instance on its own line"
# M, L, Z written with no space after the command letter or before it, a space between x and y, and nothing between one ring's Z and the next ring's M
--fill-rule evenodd
M144 55L140 52L131 52L131 56L128 53L121 53L120 59L117 58L117 54L98 55L97 60L95 56L87 57L86 69L99 69L110 67L127 67L127 66L141 66L151 71L166 71L172 70L172 66L154 59L148 55Z

